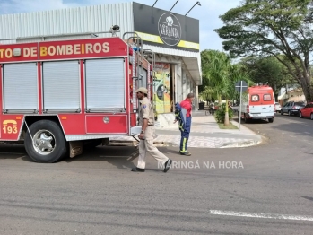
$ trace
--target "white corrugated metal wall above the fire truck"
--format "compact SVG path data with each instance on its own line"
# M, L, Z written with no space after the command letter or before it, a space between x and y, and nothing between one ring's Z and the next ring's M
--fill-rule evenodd
M19 37L109 31L115 24L120 27L118 37L122 37L124 32L134 31L132 3L0 15L0 41ZM133 35L126 35L126 39L130 36ZM111 37L111 34L101 34L100 37Z

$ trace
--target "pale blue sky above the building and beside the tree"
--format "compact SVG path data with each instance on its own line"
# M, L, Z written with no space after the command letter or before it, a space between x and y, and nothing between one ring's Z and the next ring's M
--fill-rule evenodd
M0 14L30 13L61 8L133 2L132 0L0 0ZM153 5L156 0L135 0L134 2ZM196 0L158 0L154 7L172 13L185 15L196 4ZM222 51L222 39L213 30L222 27L219 16L230 8L239 6L240 0L201 0L187 16L198 19L200 24L200 50L216 49Z

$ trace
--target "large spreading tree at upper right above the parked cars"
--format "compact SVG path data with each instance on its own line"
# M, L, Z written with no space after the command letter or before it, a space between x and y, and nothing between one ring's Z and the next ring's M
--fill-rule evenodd
M309 53L313 48L313 3L310 0L244 0L221 16L215 30L232 57L274 56L313 100ZM284 58L280 55L284 55Z

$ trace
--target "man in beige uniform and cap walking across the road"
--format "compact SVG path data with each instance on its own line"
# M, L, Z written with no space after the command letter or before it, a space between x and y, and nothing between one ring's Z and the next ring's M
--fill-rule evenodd
M136 91L137 98L140 100L139 105L139 125L142 126L142 131L139 135L139 158L137 167L132 171L144 172L145 156L149 152L156 161L160 161L164 166L164 172L170 169L171 160L160 152L153 144L154 129L154 113L150 100L147 98L148 90L144 87Z

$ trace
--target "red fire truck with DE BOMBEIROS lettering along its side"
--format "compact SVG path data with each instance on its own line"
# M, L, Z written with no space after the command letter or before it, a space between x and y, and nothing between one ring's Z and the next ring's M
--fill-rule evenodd
M109 135L132 135L135 89L152 83L153 62L126 34L0 45L0 141L55 162Z

